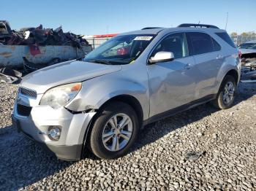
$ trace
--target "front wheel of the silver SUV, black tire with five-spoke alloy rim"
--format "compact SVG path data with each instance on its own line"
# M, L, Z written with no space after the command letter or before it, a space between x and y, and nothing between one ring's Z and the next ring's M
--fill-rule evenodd
M123 102L112 102L99 111L91 130L90 149L101 159L124 156L135 143L138 131L139 122L135 110Z

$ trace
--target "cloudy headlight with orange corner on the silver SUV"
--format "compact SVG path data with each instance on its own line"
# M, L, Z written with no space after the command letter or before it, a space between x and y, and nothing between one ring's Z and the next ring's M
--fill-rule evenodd
M40 101L40 105L51 106L53 109L59 109L61 106L66 106L69 101L75 98L82 87L82 83L73 83L53 87L48 90Z

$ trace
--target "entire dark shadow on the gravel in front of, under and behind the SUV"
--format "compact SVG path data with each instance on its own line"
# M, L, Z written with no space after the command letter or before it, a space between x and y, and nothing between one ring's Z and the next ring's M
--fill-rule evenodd
M239 85L235 104L237 105L255 94L256 84ZM203 117L218 111L210 104L203 104L186 112L159 120L157 125L148 125L140 131L140 139L130 152L135 152L173 130L201 120ZM84 160L89 159L98 160L91 153L87 154ZM0 190L18 190L40 180L47 184L46 177L64 171L70 165L77 163L58 160L54 155L45 152L45 149L42 149L34 141L26 139L11 125L0 128L0 161ZM105 162L99 160L99 163Z

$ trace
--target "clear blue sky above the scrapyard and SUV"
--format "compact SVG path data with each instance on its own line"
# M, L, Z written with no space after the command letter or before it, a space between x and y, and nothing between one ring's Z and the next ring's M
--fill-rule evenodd
M228 33L256 31L256 0L12 0L1 1L0 20L90 35L198 22L225 28L227 12Z

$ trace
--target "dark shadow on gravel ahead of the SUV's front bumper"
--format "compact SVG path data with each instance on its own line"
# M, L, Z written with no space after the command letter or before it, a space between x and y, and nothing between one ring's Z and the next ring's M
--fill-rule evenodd
M12 127L0 128L0 190L18 190L75 162L58 160Z

